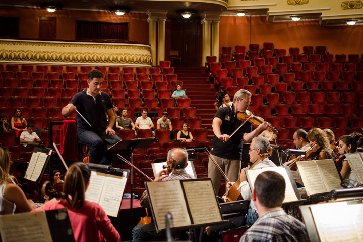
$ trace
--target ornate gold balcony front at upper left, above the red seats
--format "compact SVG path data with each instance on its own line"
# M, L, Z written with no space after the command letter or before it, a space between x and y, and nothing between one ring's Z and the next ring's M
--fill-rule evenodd
M0 62L151 66L150 46L0 40Z

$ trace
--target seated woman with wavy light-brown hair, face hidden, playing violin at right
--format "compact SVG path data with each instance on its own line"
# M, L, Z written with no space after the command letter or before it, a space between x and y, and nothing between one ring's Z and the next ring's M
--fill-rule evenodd
M310 146L314 148L305 156L305 160L326 160L333 158L333 150L326 134L320 128L313 128L307 134Z

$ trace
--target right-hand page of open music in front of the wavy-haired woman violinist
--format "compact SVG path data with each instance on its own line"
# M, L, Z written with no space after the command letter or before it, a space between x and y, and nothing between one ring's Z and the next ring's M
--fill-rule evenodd
M338 170L335 167L334 160L317 160L316 164L318 165L320 174L323 178L326 191L341 189L341 180Z

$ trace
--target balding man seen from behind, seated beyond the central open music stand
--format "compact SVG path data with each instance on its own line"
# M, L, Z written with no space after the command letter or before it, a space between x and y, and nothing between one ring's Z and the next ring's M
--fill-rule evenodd
M171 149L168 152L167 156L167 163L170 165L169 161L173 158L174 163L172 165L172 174L167 175L167 170L161 170L156 175L155 181L173 181L173 180L189 180L189 179L195 179L194 176L189 175L185 167L187 166L188 162L188 153L186 150L181 148L174 148ZM167 192L167 191L165 191ZM144 193L140 197L140 204L144 208L150 208L149 204L149 198L147 195L147 192L144 191ZM155 224L149 223L145 225L137 225L134 227L133 231L133 239L134 242L139 241L150 241L150 240L165 240L165 234L164 232L156 232L155 230Z

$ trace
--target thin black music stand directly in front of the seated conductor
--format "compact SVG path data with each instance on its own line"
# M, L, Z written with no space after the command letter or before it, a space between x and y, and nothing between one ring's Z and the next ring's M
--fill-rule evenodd
M134 149L143 149L146 148L148 146L150 146L150 144L152 144L153 142L156 142L157 139L155 138L135 138L135 139L129 139L129 140L121 140L118 141L117 143L113 144L113 146L107 148L107 150L129 150L130 154L131 154L131 164L133 163L133 152ZM125 159L129 159L129 157L124 157ZM113 166L113 161L112 161L112 166ZM133 178L134 178L134 174L133 174L133 167L131 167L131 184L130 184L130 212L131 212L131 225L132 223L132 219L133 219L133 212L132 212L132 208L133 208Z

